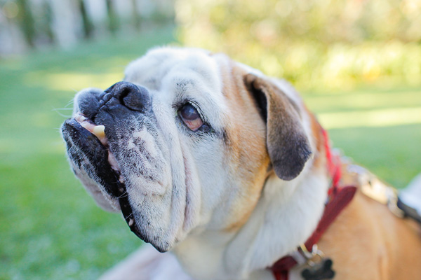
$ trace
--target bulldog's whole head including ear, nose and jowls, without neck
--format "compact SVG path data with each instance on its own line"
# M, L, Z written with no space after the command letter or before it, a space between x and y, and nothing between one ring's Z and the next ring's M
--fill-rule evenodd
M267 176L300 174L311 151L293 99L225 55L156 49L123 82L79 92L62 134L98 204L168 251L188 234L240 228Z

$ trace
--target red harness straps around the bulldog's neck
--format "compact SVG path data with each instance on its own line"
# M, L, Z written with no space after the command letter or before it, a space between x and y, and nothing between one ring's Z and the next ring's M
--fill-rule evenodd
M342 209L344 209L349 202L351 202L352 197L356 192L355 186L347 186L340 188L339 181L341 178L341 163L340 157L338 155L332 155L330 150L330 144L328 139L328 134L326 130L323 131L323 139L325 144L326 151L326 160L328 165L328 172L332 177L332 186L328 190L328 202L325 205L323 211L323 216L317 225L316 230L307 241L305 241L305 249L307 251L312 251L314 244L316 244L323 232L327 230L329 225L335 221L335 218L340 214ZM298 248L302 250L302 248ZM298 265L297 260L291 255L286 255L283 258L277 260L272 267L269 267L274 274L276 280L288 280L288 272L290 269Z

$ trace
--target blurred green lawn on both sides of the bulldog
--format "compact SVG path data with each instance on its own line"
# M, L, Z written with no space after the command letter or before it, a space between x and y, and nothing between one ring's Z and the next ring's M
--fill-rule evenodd
M142 242L95 206L67 165L59 127L83 87L108 87L163 29L0 60L0 279L96 279ZM399 188L421 172L421 88L306 92L335 146Z

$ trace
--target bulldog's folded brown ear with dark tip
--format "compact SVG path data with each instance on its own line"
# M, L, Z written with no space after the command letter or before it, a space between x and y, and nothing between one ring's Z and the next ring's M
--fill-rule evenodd
M312 154L297 104L266 78L247 74L244 84L266 122L267 151L276 175L294 179Z

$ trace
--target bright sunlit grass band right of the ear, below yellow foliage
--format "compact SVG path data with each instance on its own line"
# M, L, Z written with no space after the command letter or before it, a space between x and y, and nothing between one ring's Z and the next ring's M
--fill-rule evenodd
M356 90L303 94L326 129L421 123L421 90Z

